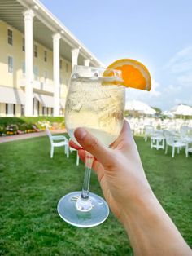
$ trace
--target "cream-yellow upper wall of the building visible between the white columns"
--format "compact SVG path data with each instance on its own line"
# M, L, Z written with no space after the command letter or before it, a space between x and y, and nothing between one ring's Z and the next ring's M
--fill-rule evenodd
M7 29L13 31L13 45L7 42ZM23 78L22 64L24 62L24 51L22 51L22 40L24 34L12 28L9 24L0 20L0 86L20 87L20 80ZM33 56L33 66L38 68L38 80L45 82L44 71L47 71L46 83L53 85L53 52L38 42L33 42L33 45L38 47L37 58ZM34 48L33 48L34 50ZM47 62L44 61L44 51L47 51ZM8 55L13 57L13 73L8 73ZM72 71L72 64L60 57L63 62L63 67L60 69L61 97L65 98L67 94L66 81L69 80ZM66 64L68 63L68 72L66 72ZM43 91L41 91L43 92Z

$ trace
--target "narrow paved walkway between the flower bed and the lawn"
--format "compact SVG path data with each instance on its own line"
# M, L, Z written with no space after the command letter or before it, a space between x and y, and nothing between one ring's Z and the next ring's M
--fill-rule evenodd
M51 130L52 135L63 134L65 132L66 132L65 129ZM46 136L46 131L34 132L31 134L24 134L24 135L3 136L3 137L0 137L0 143L10 142L10 141L19 140L19 139L30 139L30 138L41 137L41 136Z

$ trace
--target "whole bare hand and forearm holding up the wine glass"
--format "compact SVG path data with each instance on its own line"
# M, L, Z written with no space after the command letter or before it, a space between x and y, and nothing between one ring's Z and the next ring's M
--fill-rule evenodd
M85 161L85 150L94 156L93 169L111 211L128 232L134 255L192 255L177 227L153 194L142 168L127 121L111 148L82 128L70 141Z

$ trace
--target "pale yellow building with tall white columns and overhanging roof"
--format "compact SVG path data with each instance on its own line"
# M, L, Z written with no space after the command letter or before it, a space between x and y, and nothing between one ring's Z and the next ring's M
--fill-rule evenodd
M103 66L41 2L0 1L0 117L62 115L75 64Z

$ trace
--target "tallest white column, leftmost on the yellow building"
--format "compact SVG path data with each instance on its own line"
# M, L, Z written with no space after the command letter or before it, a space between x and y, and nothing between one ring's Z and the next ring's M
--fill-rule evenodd
M33 116L33 17L34 11L24 11L25 39L25 117Z

